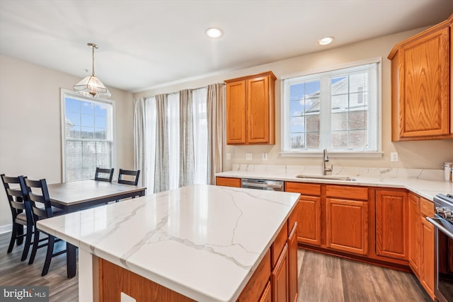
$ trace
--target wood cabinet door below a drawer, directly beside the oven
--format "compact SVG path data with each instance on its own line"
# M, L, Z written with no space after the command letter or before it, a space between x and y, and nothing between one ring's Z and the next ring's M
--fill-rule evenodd
M420 218L421 231L421 284L434 297L434 226L425 217Z

